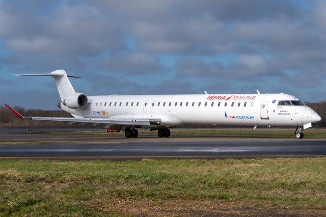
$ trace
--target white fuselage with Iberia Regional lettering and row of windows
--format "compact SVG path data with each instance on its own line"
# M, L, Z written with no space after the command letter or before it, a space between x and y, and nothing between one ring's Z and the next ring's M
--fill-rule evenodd
M89 96L84 108L61 107L74 117L157 119L160 126L303 126L320 121L310 107L279 105L281 100L298 99L288 94L107 95Z

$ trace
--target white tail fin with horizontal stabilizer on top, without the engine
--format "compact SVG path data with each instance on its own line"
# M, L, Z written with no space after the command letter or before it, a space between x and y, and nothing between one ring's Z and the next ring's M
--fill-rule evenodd
M72 96L76 93L73 89L68 77L76 77L67 75L65 70L52 71L49 74L14 74L16 76L51 76L55 78L55 82L59 91L61 101L65 100L67 97ZM76 77L80 78L80 77Z

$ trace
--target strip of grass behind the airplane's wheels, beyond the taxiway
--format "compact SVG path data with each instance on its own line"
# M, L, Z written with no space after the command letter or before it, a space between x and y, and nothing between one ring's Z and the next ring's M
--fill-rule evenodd
M62 131L41 132L46 134L89 134L89 135L122 135L124 131L107 133L105 130L98 131ZM308 129L304 131L305 138L326 139L326 129ZM139 130L139 135L157 135L157 131ZM294 138L294 129L171 129L172 137L253 137L253 138Z

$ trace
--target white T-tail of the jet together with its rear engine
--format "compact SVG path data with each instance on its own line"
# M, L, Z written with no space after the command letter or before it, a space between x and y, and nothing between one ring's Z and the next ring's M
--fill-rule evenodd
M16 76L51 76L55 79L58 92L60 95L61 102L58 103L58 107L61 108L61 103L66 105L69 108L75 109L75 108L82 108L87 105L88 99L87 96L85 96L82 93L77 93L68 77L75 77L80 78L76 76L67 75L65 70L56 70L52 71L49 74L15 74Z

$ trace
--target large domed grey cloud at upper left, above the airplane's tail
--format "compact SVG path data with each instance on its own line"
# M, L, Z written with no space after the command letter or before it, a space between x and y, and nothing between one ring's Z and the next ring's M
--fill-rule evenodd
M59 57L87 56L126 48L114 20L83 6L60 5L37 32L39 34L33 37L11 37L8 46L18 52Z

